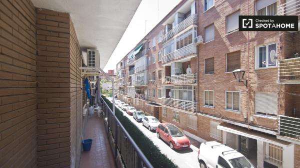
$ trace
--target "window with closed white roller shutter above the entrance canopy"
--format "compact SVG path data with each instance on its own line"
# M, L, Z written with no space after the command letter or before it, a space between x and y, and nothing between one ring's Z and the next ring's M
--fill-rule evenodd
M262 115L277 115L277 93L255 92L255 112Z

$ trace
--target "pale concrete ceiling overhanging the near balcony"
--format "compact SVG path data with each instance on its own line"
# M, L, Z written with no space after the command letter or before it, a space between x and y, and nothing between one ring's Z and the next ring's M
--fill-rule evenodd
M98 49L104 68L141 0L32 0L34 6L68 12L81 50ZM83 56L86 57L83 52Z

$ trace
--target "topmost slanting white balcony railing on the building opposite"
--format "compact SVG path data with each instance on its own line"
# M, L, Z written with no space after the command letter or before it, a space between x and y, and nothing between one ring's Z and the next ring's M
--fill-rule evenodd
M184 30L188 26L190 26L192 24L196 24L196 21L197 21L196 14L192 14L192 15L188 16L186 19L184 19L179 24L174 26L170 31L165 33L162 36L161 43L166 42L168 39L172 38L174 35L176 35L180 31Z

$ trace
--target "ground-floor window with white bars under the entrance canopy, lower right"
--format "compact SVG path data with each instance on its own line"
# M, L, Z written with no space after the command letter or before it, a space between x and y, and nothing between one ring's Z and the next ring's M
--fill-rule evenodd
M263 161L281 168L283 163L283 148L266 142L263 142L263 146L263 149L265 149Z

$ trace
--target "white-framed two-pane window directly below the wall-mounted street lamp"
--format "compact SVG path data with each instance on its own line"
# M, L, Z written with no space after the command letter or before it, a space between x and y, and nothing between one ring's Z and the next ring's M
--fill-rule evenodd
M226 91L226 110L239 111L239 92L227 92Z

